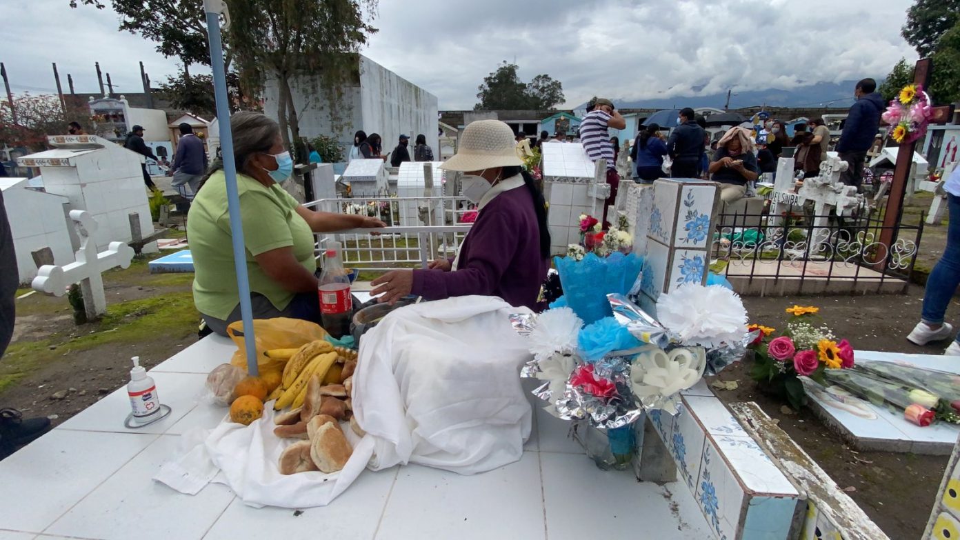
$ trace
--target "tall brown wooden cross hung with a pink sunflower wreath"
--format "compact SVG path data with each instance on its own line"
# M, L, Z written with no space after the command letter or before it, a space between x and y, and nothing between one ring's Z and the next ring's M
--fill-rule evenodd
M929 86L930 74L933 71L933 61L921 59L913 70L913 84ZM950 107L932 108L931 124L944 123L949 120ZM910 176L910 166L913 164L913 153L917 149L917 141L900 144L897 152L897 164L894 167L894 179L890 183L890 195L887 197L887 208L883 214L883 229L880 231L880 244L887 247L887 253L893 251L893 245L900 233L900 219L903 217L903 197L906 195L907 179ZM875 268L883 271L887 265L887 257L876 261Z

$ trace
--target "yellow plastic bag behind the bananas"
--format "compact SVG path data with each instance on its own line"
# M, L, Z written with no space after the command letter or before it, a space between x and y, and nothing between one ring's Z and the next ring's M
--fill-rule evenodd
M243 321L227 327L227 335L237 346L230 363L247 371L247 345L244 343ZM298 349L304 343L326 339L328 335L317 323L301 319L253 319L253 335L256 344L256 363L259 370L283 369L286 360L276 360L264 355L271 349Z

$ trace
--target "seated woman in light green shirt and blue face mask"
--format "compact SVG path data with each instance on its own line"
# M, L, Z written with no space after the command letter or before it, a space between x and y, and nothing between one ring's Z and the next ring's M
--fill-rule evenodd
M293 317L320 322L314 233L385 224L370 217L313 211L280 183L293 174L279 126L257 112L230 116L237 190L247 248L254 319ZM214 161L190 208L187 235L195 276L193 300L210 330L226 335L240 320L240 300L223 164Z

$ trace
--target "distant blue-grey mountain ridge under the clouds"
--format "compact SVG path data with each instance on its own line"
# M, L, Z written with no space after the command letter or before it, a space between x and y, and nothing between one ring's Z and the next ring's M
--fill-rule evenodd
M816 83L813 85L797 86L791 90L737 90L733 89L730 98L731 109L758 107L767 105L772 107L791 108L837 108L848 109L853 101L853 86L856 81L842 83ZM698 86L695 90L702 88ZM669 91L669 90L668 90ZM727 93L706 94L692 97L668 97L641 100L614 99L617 109L683 109L684 107L715 107L723 109L727 101ZM830 103L834 102L834 103ZM587 104L575 108L584 109Z

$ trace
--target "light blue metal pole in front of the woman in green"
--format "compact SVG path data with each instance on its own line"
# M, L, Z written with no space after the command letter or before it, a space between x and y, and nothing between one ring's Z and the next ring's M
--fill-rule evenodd
M240 295L240 316L243 320L244 345L247 349L247 371L259 374L256 364L256 342L253 339L253 309L250 301L250 279L247 276L247 251L244 247L243 222L240 216L240 195L237 192L237 169L233 160L233 133L230 130L230 110L227 96L227 77L224 73L224 50L220 37L220 14L229 25L227 4L223 0L204 0L206 33L210 42L210 68L213 72L213 93L217 99L217 118L220 120L220 148L223 154L224 176L227 182L227 207L230 216L230 235L233 240L233 265Z

